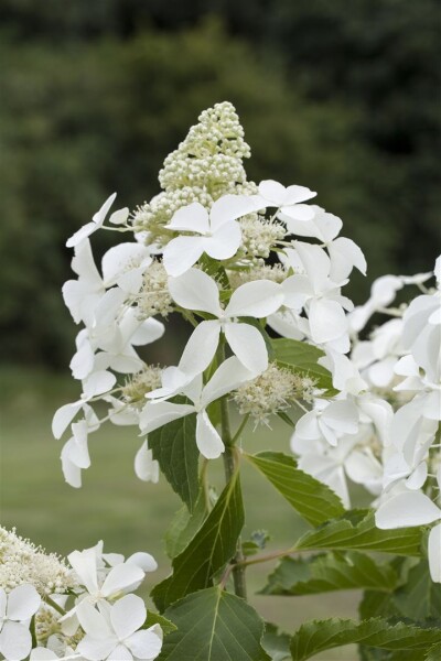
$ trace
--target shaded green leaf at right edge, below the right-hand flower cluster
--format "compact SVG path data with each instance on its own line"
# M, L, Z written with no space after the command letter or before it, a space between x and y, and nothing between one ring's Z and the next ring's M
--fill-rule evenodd
M431 579L427 557L409 571L406 584L392 595L392 604L410 619L441 618L441 585Z

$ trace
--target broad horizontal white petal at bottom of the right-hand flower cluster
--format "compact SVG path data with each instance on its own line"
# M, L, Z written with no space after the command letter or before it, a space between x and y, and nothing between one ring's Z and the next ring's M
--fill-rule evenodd
M406 491L386 500L378 508L375 521L378 528L427 525L441 519L441 510L420 491Z

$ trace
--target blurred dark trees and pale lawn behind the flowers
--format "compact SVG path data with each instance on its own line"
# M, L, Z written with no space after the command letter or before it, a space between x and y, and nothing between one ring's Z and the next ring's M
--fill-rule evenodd
M381 273L432 268L439 24L435 0L0 2L3 523L60 552L105 537L110 550L162 553L162 523L179 503L163 480L135 480L138 438L104 431L84 490L63 484L50 420L77 389L67 368L76 328L60 290L66 238L112 191L130 208L159 192L163 159L204 108L236 106L249 178L310 186L343 218L369 266L367 280L354 275L356 302ZM94 236L97 254L109 234ZM178 355L174 337L155 360ZM286 432L273 437L287 446ZM298 523L249 480L251 518L261 508L283 545ZM306 603L278 607L287 626ZM331 596L314 613L353 606Z

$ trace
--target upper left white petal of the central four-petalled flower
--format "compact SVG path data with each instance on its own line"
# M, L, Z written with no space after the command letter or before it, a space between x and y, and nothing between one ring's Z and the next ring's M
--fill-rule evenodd
M170 278L169 291L172 299L185 310L222 314L219 290L213 278L198 269L191 269L180 278Z

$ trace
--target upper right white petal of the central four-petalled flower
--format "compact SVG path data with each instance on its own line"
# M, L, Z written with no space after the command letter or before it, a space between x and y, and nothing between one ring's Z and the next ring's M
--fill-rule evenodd
M283 299L283 291L277 282L255 280L243 284L233 292L225 314L229 317L265 317L279 310Z

